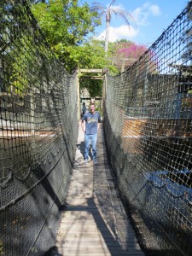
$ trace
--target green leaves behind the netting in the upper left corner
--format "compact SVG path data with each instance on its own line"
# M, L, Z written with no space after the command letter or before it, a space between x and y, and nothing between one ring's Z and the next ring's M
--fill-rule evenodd
M26 37L25 18L20 15L24 10L21 3L15 6L15 3L4 3L1 6L1 39L0 60L3 66L3 90L12 91L16 95L25 93L29 77L32 71L30 66L31 39ZM18 23L13 22L15 16L20 24L20 35L18 36ZM14 45L14 46L13 46ZM1 58L2 55L2 58ZM31 63L32 64L32 63ZM33 63L36 64L36 61Z

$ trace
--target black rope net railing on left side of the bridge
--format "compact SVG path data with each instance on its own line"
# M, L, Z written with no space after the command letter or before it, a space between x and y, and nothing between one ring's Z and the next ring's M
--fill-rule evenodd
M0 3L0 255L55 245L78 135L77 79L26 1Z

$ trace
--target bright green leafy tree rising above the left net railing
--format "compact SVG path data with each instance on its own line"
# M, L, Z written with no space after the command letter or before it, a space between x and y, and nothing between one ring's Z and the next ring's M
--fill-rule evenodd
M32 5L32 13L44 32L50 47L68 72L79 67L79 46L100 24L96 12L87 3L78 0L50 0Z

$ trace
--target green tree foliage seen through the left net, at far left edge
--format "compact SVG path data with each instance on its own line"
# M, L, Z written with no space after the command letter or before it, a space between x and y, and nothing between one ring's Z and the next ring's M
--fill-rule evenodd
M24 44L25 36L18 39L18 27L20 34L25 34L25 18L20 15L25 11L25 7L22 3L15 5L14 2L5 1L5 3L0 4L0 11L0 44L2 46L0 49L0 73L4 78L2 81L0 80L0 90L9 92L14 89L15 93L20 94L25 87L24 84L26 84L26 77L23 67L21 67L26 61L24 61L22 54L26 45ZM17 17L17 22L14 22L15 17Z

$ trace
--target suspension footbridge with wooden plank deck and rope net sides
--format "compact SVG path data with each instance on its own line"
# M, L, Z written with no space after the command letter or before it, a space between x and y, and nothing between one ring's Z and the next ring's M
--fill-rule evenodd
M6 4L0 256L191 256L191 2L132 67L102 74L96 166L83 162L79 72L26 1Z

